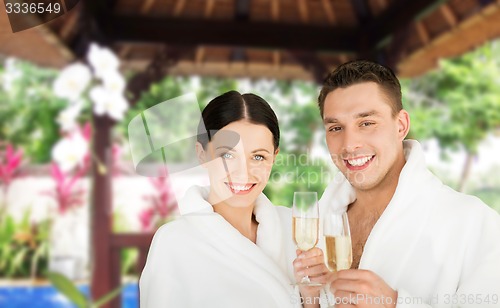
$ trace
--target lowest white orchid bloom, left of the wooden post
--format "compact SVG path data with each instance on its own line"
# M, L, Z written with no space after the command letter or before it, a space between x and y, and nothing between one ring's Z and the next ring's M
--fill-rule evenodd
M68 172L78 164L83 164L88 152L88 143L80 133L74 133L59 140L52 148L52 159L62 171Z

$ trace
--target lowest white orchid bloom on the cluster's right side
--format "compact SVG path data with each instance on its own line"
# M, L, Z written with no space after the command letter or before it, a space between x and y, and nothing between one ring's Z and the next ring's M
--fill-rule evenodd
M122 93L96 86L90 91L90 98L94 102L94 112L97 115L109 115L114 120L122 120L128 109L128 102Z

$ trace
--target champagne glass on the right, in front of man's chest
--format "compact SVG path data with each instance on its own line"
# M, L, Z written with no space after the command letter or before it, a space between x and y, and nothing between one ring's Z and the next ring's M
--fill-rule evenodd
M323 217L325 263L331 272L351 268L352 242L347 212L327 211Z

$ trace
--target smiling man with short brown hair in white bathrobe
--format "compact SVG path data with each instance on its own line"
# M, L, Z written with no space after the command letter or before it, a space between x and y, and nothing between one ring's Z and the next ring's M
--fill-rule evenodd
M313 249L298 253L296 277L331 282L336 307L500 307L500 215L443 185L420 144L404 140L410 117L394 73L345 63L327 76L318 103L341 171L320 208L347 211L353 263L326 273Z

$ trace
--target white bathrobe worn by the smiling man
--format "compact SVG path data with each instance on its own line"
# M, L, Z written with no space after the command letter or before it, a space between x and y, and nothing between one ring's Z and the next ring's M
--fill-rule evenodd
M500 215L441 183L417 141L404 141L404 149L396 192L368 236L359 268L398 291L398 308L500 307ZM355 198L339 172L321 212L347 210Z

